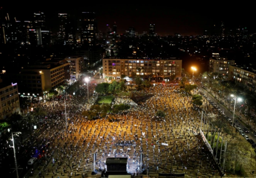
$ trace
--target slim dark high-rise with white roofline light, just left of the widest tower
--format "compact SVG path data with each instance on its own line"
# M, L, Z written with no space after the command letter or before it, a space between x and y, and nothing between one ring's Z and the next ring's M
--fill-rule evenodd
M67 23L68 23L68 15L67 14L59 14L59 32L58 39L66 45L67 37Z

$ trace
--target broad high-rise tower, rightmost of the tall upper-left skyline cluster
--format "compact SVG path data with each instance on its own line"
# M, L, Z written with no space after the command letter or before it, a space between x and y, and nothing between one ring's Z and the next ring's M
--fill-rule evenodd
M96 28L95 12L83 12L82 19L80 19L80 39L82 45L95 45Z

